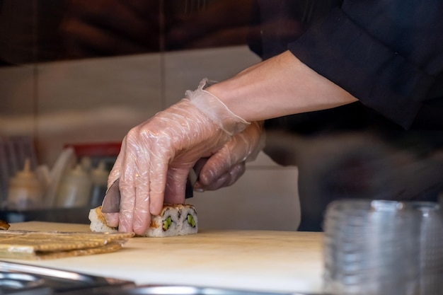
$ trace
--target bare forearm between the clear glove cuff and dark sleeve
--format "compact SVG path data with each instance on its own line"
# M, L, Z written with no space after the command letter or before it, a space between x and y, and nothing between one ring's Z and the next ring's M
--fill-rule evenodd
M206 89L247 121L335 108L357 101L284 52Z

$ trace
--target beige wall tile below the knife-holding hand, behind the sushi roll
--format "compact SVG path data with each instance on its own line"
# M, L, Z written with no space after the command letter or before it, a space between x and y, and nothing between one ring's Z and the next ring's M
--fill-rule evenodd
M231 187L195 192L187 202L197 208L202 229L295 231L300 222L297 178L296 167L248 166Z

